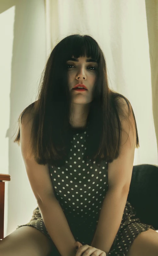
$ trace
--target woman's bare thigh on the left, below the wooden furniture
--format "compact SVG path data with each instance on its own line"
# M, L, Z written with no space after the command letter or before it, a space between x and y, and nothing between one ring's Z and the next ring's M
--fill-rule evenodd
M1 256L48 256L52 252L52 241L40 230L23 226L0 241Z

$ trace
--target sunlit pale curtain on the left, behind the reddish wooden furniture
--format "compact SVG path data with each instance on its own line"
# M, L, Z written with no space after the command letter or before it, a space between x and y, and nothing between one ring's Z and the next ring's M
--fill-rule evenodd
M0 0L0 173L11 179L5 182L4 237L27 223L37 205L13 135L19 114L36 98L45 35L44 0Z

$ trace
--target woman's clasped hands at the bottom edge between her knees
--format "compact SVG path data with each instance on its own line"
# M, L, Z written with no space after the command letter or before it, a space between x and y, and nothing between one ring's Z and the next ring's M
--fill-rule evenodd
M76 241L74 243L74 247L76 246L78 246L79 248L76 250L75 256L106 256L105 252L88 244L82 245L80 242Z

